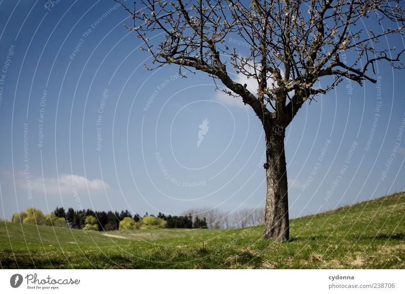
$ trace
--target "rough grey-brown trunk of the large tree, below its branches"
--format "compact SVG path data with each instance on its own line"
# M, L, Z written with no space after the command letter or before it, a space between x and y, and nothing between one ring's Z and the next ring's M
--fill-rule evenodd
M278 125L265 127L267 193L263 239L288 240L287 165L284 150L286 130Z

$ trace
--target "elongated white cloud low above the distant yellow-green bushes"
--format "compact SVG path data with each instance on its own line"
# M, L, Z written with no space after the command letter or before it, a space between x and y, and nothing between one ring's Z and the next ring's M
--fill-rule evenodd
M26 187L26 183L23 182ZM44 192L50 194L56 193L70 193L72 189L77 191L87 192L101 192L104 189L108 189L109 185L100 180L94 179L90 180L86 177L71 174L60 174L57 178L47 177L47 178L32 178L31 187L35 192Z

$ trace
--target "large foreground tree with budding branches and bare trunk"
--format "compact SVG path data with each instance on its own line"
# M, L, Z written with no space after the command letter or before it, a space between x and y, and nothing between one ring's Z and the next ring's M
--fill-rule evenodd
M205 72L259 118L266 141L263 238L289 239L284 139L298 110L344 79L376 83L377 62L403 68L404 50L396 54L379 43L402 34L399 0L141 0L139 10L115 1L130 13L134 23L126 27L143 42L140 50L153 58L146 69L174 64L180 74ZM378 31L362 28L363 22L380 24ZM226 42L228 36L245 42L249 52ZM228 65L253 79L256 89L232 79Z

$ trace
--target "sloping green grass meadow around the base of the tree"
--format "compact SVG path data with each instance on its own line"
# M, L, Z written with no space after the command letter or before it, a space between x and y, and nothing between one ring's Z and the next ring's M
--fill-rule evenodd
M2 268L405 268L405 193L291 221L232 230L83 232L0 224Z

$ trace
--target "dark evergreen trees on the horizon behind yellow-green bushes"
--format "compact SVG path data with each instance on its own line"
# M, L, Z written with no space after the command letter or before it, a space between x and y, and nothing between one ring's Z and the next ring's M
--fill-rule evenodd
M124 218L131 218L135 221L135 228L141 228L142 220L150 220L152 217L155 219L153 222L156 223L158 227L165 228L185 228L185 229L197 229L197 228L207 228L206 218L200 219L198 217L192 217L191 215L184 216L172 216L160 213L155 217L154 215L148 215L147 213L141 217L139 214L132 215L128 210L121 211L120 213L112 211L93 211L88 210L74 210L73 208L68 208L67 211L63 207L57 207L54 211L55 216L58 218L64 218L69 227L74 229L82 229L86 226L86 218L88 216L93 216L97 220L99 231L111 231L117 230L119 228L120 221ZM161 221L161 220L164 220ZM150 221L149 221L150 223Z

